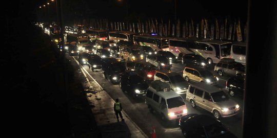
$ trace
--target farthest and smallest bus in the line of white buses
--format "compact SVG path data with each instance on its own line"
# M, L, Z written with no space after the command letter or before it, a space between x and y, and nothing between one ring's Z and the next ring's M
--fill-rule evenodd
M107 30L97 30L97 29L88 29L86 30L85 34L89 36L91 40L94 40L94 39L106 40L109 36Z

